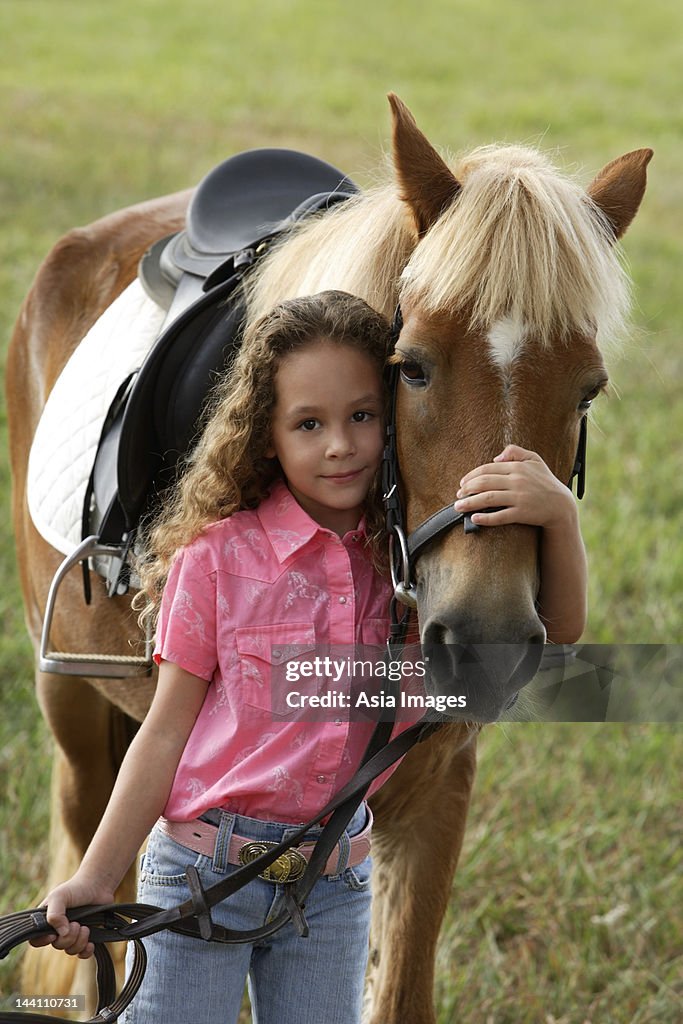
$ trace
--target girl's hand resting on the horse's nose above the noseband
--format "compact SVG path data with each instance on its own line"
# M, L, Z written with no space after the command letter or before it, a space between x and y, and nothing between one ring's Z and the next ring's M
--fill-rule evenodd
M556 529L566 527L577 516L568 487L540 455L517 444L508 444L493 462L467 473L456 497L456 510L473 513L477 526L526 523ZM500 512L480 511L501 506Z

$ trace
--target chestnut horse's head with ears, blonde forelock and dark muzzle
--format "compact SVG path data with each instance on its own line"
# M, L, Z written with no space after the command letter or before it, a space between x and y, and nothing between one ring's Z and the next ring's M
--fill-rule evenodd
M615 243L638 210L651 151L613 161L586 193L520 146L475 151L453 171L389 99L416 234L395 349L397 452L414 530L509 443L569 480L582 417L607 381L604 340L628 307ZM538 528L459 525L414 571L430 685L464 686L467 717L497 718L535 675L546 639Z

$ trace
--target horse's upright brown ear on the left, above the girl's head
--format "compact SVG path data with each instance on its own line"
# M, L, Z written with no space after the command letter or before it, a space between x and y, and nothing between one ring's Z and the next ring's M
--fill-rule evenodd
M453 203L460 191L460 182L422 134L405 103L393 92L388 99L400 198L413 211L418 232L422 236Z

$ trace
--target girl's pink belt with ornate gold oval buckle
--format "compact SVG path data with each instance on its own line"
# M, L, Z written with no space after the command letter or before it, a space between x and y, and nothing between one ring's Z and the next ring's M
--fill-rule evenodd
M218 837L217 825L212 825L208 821L195 818L193 821L169 821L168 818L160 818L157 822L158 828L170 839L186 846L195 853L203 853L206 857L213 857ZM373 827L373 815L368 808L368 824L357 836L349 837L348 859L342 863L342 870L345 867L355 867L366 859L370 853L372 845L371 831ZM248 864L251 860L265 853L276 846L276 843L264 840L245 839L244 836L230 836L227 850L227 860L230 864ZM260 878L266 882L285 883L296 882L306 869L306 864L310 860L314 843L303 843L301 846L292 847L280 857L269 867L261 872ZM341 855L340 844L335 852L329 857L324 874L339 873L339 858Z

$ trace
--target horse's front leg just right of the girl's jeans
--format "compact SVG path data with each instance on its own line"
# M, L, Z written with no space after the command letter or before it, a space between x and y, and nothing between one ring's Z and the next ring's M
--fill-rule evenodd
M476 735L445 726L373 798L368 1024L434 1024L434 957L465 833Z

